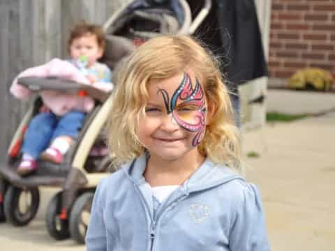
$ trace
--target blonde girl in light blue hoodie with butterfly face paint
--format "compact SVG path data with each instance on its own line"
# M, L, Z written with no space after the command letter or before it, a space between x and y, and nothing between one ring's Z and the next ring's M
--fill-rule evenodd
M188 36L141 45L118 73L87 250L269 250L260 195L216 59Z

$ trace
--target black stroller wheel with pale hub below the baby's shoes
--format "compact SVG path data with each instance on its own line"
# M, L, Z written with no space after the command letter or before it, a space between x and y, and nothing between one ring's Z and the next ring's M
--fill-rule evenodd
M5 218L15 226L27 225L35 217L39 204L38 188L22 189L10 185L3 201Z

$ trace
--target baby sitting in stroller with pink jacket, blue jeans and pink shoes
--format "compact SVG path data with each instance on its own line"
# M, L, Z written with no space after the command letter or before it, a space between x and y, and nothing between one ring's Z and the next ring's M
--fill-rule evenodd
M53 59L43 66L29 68L13 81L10 92L17 98L27 98L30 91L17 84L19 77L65 77L83 84L92 84L98 89L111 91L110 69L98 59L103 56L105 38L103 29L94 24L80 22L68 38L68 53L71 59ZM22 160L17 174L26 176L38 168L38 158L61 164L64 155L77 137L85 115L94 107L87 93L61 93L43 91L43 106L29 123L22 144Z

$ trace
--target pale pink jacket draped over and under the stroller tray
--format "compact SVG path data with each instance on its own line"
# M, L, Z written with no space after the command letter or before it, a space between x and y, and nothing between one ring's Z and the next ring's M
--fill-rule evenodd
M17 75L10 86L10 93L16 98L27 99L32 96L32 92L24 86L17 84L19 77L48 77L57 76L65 79L70 79L82 84L90 84L87 77L85 77L80 70L78 70L72 63L61 59L52 59L52 61L45 63L42 66L28 68ZM111 91L112 84L96 82L93 84L96 88L103 91ZM94 107L94 100L89 96L78 96L77 94L61 93L59 91L41 91L40 96L47 107L51 109L54 114L62 116L70 110L78 110L82 112L89 112Z

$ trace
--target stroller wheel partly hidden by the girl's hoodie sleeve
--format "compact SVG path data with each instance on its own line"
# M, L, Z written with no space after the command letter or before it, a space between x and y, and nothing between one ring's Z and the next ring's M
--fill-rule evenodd
M70 213L70 233L71 237L78 243L85 243L87 226L89 225L89 216L91 215L91 206L93 201L93 192L84 192L73 204Z

